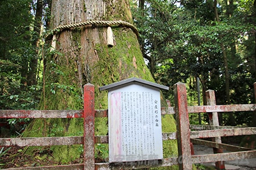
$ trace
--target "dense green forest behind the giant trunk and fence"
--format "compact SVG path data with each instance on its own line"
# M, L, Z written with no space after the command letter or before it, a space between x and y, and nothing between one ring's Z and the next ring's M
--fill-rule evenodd
M215 91L217 104L255 103L255 0L142 0L130 1L130 7L145 62L155 81L171 88L163 92L171 103L177 82L186 83L189 105L205 104L209 89ZM0 1L1 109L38 109L45 84L44 56L51 53L45 45L50 11L51 0ZM56 74L63 74L51 65ZM52 94L56 87L73 88L47 86ZM198 116L192 114L191 123L207 124L207 116ZM1 121L11 125L9 135L15 136L25 128L17 123L31 120ZM256 117L227 113L220 116L220 124L256 126Z

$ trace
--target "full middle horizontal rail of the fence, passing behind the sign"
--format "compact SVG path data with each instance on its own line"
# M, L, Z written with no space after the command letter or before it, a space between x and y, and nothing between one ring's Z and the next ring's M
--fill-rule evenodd
M256 134L256 128L234 128L217 130L191 131L191 139L228 137ZM174 140L176 132L162 133L163 141ZM109 143L108 135L94 136L95 143ZM35 137L35 138L0 138L0 146L53 146L84 144L82 136L77 137Z

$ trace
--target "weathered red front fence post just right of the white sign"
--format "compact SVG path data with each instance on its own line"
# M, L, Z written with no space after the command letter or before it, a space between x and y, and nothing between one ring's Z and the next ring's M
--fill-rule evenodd
M184 83L174 85L179 169L192 169L187 91ZM182 159L182 160L181 160Z

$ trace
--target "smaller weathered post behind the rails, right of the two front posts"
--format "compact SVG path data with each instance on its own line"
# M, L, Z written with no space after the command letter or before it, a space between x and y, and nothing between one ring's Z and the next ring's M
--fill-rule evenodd
M207 105L216 105L216 99L215 99L215 94L213 90L206 91L206 97L207 97ZM217 112L208 113L208 116L209 116L210 125L212 126L219 125ZM216 143L221 143L221 137L214 137L212 138L212 141ZM220 148L213 148L213 153L214 154L223 153L223 150ZM215 162L215 166L217 169L225 169L224 161Z

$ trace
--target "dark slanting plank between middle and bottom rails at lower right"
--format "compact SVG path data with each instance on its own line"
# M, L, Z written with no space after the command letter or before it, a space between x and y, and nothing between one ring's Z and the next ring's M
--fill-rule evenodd
M238 152L238 151L252 151L253 149L241 146L228 145L225 143L216 143L212 141L205 141L202 139L191 139L191 142L197 145L204 145L208 147L220 148L227 151Z

